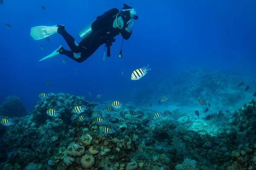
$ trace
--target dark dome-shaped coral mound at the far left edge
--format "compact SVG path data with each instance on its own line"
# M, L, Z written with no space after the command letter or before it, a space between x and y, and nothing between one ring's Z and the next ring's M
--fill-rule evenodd
M21 117L26 114L25 105L17 96L8 96L0 105L0 116Z

